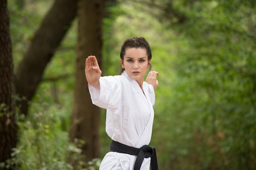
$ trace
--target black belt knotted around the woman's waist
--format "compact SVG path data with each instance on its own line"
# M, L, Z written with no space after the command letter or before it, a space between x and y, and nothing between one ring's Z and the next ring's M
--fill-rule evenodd
M144 145L141 148L134 148L116 141L110 144L110 152L126 153L129 155L137 155L133 170L140 170L144 158L151 158L151 170L158 170L157 154L154 147Z

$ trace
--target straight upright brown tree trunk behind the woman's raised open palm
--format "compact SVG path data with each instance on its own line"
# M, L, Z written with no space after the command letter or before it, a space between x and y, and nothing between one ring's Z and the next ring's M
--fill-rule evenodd
M85 59L97 56L101 65L101 27L103 0L80 0L78 6L78 44L74 106L69 131L70 140L82 139L85 160L99 157L99 107L92 105L85 79Z

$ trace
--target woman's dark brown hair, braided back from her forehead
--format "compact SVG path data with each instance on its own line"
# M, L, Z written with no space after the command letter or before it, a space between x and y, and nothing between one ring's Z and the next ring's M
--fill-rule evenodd
M149 70L151 70L151 64L149 63L149 60L152 59L152 54L151 54L151 48L148 44L148 41L144 37L134 37L130 39L126 39L124 41L124 44L122 45L121 52L120 52L120 58L122 61L124 61L124 55L126 52L127 48L145 48L146 53L148 55L148 65L149 65ZM122 68L121 73L124 72L124 68Z

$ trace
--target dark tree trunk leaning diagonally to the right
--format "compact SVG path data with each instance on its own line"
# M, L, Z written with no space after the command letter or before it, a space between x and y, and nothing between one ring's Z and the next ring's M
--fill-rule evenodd
M77 0L55 0L36 31L16 73L16 92L31 100L41 81L43 71L61 43L76 16ZM28 103L18 103L21 113L27 115Z

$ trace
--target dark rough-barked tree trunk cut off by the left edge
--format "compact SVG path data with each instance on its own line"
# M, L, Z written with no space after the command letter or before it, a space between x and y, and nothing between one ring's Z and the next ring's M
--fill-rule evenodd
M0 0L0 23L0 162L4 162L11 158L11 149L16 147L17 142L15 100L12 99L15 88L7 0ZM0 168L0 170L5 169Z

